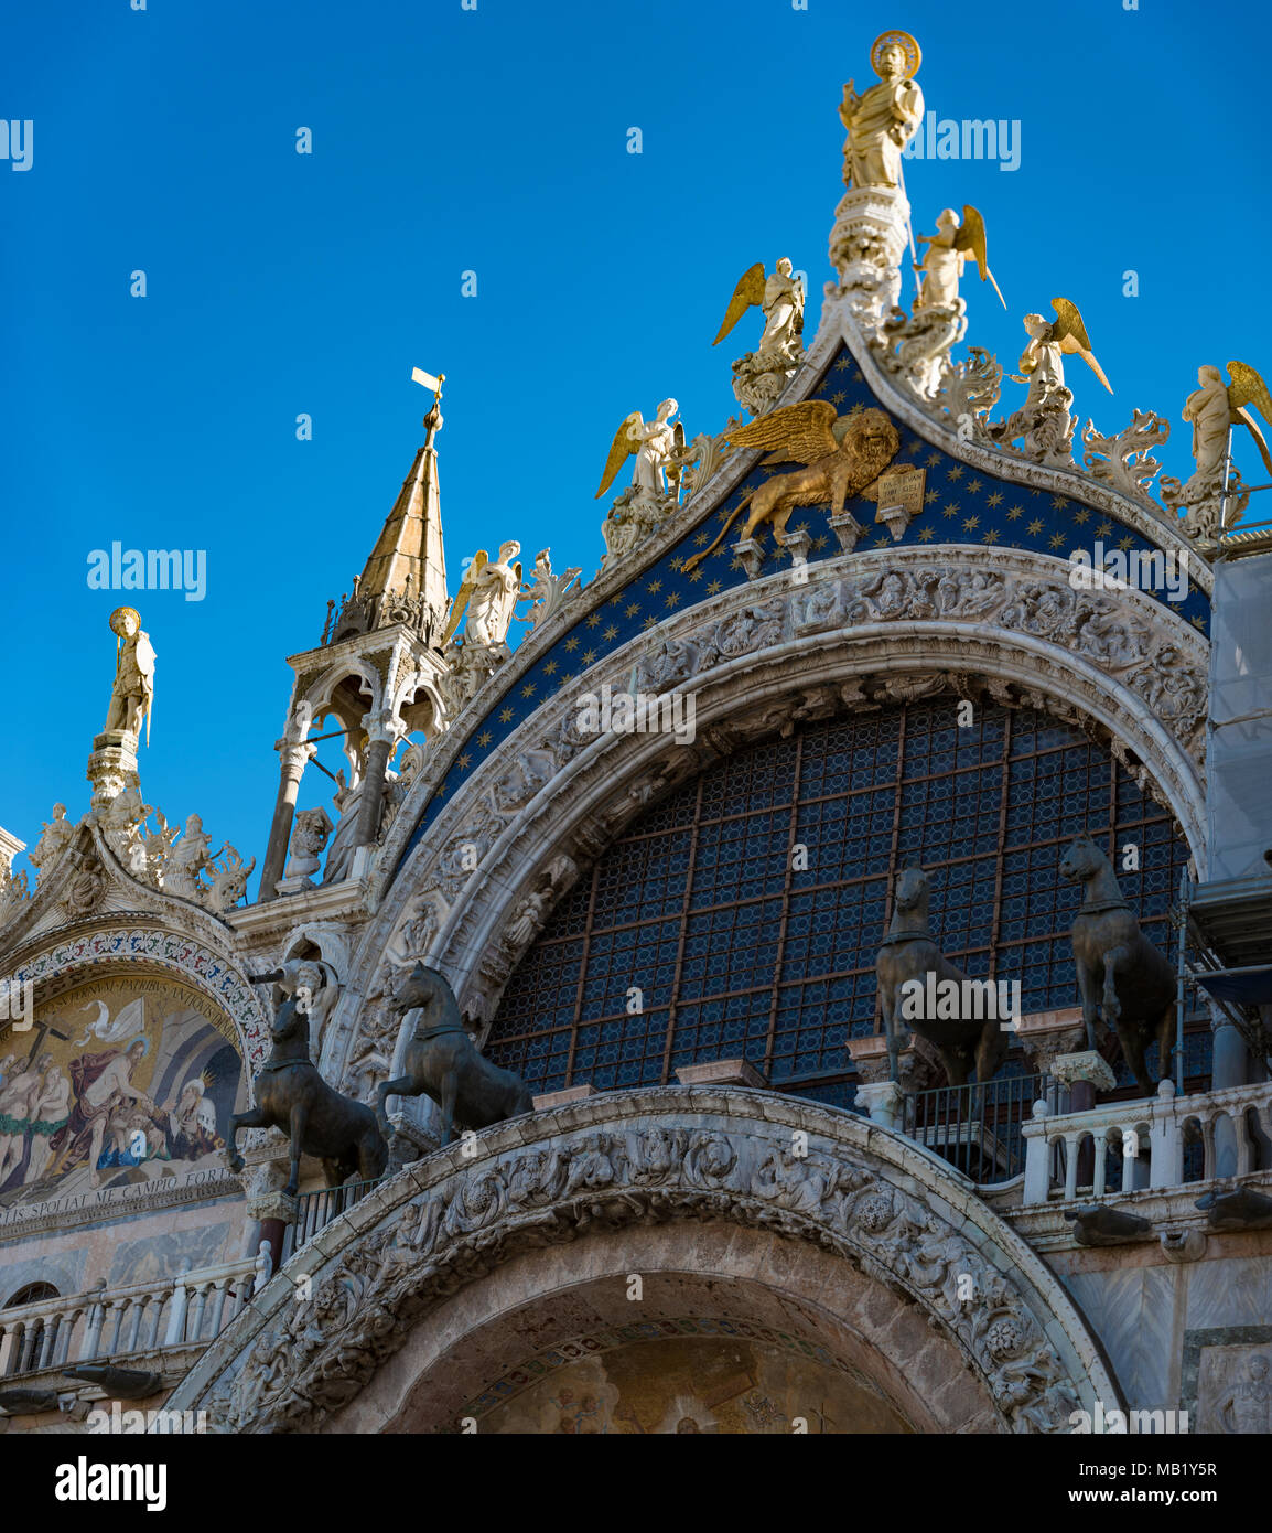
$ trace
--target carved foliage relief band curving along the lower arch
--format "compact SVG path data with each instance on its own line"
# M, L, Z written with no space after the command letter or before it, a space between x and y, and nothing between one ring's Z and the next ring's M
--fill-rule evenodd
M1018 1283L866 1164L763 1130L576 1131L446 1177L362 1239L213 1387L219 1432L299 1432L351 1400L437 1302L513 1256L595 1229L729 1219L811 1240L912 1294L1005 1430L1067 1432L1077 1390ZM976 1302L959 1297L970 1277Z

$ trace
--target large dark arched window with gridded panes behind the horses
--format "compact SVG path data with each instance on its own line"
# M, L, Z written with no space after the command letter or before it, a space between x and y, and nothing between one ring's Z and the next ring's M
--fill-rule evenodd
M895 871L932 874L932 929L967 973L1019 980L1025 1012L1076 1006L1080 894L1059 862L1080 831L1119 852L1145 934L1171 950L1188 848L1077 730L1001 707L959 728L953 699L808 724L710 768L601 855L509 980L487 1052L535 1093L743 1056L779 1090L847 1105ZM1139 871L1122 871L1128 843Z

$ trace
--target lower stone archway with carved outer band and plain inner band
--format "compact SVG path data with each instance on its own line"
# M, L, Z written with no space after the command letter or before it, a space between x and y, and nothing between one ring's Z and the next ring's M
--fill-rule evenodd
M516 1360L613 1329L622 1305L648 1326L782 1331L913 1430L1065 1432L1117 1400L1039 1257L867 1119L661 1088L501 1124L467 1151L406 1167L323 1229L169 1404L227 1432L455 1430Z

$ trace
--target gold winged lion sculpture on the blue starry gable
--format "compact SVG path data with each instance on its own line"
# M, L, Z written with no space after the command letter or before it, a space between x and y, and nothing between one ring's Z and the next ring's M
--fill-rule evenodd
M785 405L740 426L728 440L736 448L772 449L765 464L806 463L808 468L780 474L743 495L711 547L685 560L687 570L719 547L748 501L751 512L742 532L743 541L762 521L771 521L774 537L782 543L795 506L829 503L831 514L838 517L847 497L869 489L901 448L897 428L881 409L840 415L825 399Z

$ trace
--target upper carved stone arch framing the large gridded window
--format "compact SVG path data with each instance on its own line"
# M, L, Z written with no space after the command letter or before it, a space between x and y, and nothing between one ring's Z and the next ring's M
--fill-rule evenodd
M651 796L783 722L870 705L864 678L906 698L944 676L967 694L1024 701L1102 731L1200 862L1206 641L1151 596L1074 592L1068 573L1064 560L1021 550L857 553L817 566L806 583L783 572L722 593L664 622L656 650L633 641L562 687L443 805L368 923L340 1018L340 1067L368 1039L392 1053L392 1019L362 1007L383 995L386 966L408 950L425 958L487 1023L578 866ZM579 698L604 684L691 693L696 740L590 737Z

